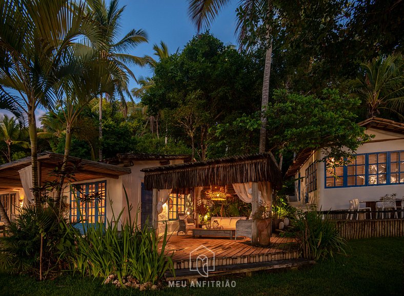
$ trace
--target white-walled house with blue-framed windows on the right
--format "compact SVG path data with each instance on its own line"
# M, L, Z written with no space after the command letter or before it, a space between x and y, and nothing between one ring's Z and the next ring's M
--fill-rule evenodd
M316 204L322 210L349 208L349 200L404 196L404 124L381 118L359 123L375 137L361 145L348 166L327 169L321 150L301 151L286 176L295 179L294 205ZM330 162L333 159L328 160Z

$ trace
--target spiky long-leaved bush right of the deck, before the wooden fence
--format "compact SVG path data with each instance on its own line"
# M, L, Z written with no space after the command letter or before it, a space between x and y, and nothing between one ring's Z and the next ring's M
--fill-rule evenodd
M304 258L320 261L338 253L346 254L346 241L340 236L336 222L327 215L298 210L291 226L287 235L297 239Z

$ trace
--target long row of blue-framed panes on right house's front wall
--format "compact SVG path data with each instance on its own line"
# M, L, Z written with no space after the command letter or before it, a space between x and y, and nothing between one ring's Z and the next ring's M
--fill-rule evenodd
M355 156L347 166L325 168L325 188L404 184L404 151Z

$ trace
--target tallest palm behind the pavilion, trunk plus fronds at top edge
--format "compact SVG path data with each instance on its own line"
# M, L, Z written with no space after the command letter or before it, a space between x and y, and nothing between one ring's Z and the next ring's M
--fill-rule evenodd
M202 27L209 27L216 15L222 8L230 3L230 0L188 0L188 3L189 14L199 32ZM262 84L261 127L259 132L259 152L262 153L266 151L267 116L265 115L265 110L269 99L269 79L272 63L272 38L269 22L273 14L272 0L241 0L240 10L243 11L243 16L239 19L236 28L240 44L241 40L248 34L253 20L258 18L262 20L266 26L264 42L267 50L265 55L264 82ZM260 12L265 12L265 15L260 15Z

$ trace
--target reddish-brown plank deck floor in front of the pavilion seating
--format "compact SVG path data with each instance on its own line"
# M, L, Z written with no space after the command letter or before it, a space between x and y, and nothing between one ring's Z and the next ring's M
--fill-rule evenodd
M173 234L169 237L166 254L173 254L175 269L196 267L196 258L206 256L215 266L297 259L297 245L292 238L273 235L271 245L256 247L250 239L192 238L191 235ZM200 262L200 261L199 261ZM213 263L212 263L213 264Z

